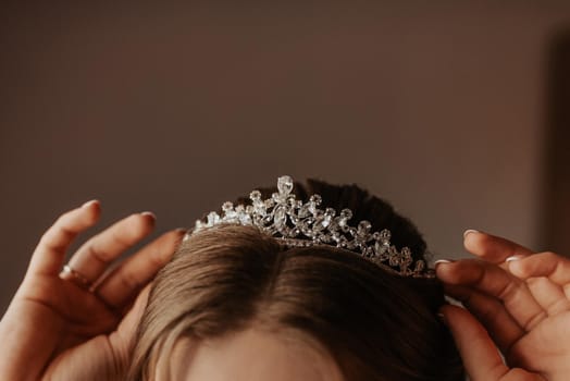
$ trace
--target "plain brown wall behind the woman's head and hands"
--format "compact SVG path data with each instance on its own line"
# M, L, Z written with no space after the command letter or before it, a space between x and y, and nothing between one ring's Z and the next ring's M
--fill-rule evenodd
M570 3L90 7L0 12L1 308L66 209L161 232L284 173L368 187L441 256L467 228L570 253Z

